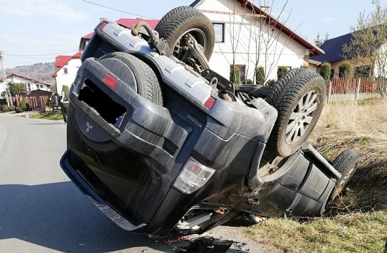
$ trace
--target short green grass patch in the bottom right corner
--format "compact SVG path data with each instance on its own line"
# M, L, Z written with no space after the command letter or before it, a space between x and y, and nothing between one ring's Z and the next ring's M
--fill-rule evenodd
M246 229L254 240L288 252L383 252L387 213L352 213L309 221L273 218Z

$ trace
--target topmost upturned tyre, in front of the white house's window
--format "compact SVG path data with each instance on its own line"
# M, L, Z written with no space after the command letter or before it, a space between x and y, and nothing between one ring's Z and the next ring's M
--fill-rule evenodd
M170 10L161 18L155 30L160 38L167 41L172 54L178 59L181 58L179 44L188 33L203 47L207 60L212 55L215 44L213 25L203 13L193 7L180 6Z

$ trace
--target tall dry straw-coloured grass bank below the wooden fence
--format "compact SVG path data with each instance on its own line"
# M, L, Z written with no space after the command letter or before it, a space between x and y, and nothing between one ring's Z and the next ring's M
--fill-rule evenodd
M387 100L332 103L324 107L311 143L333 160L345 149L360 156L348 187L355 196L341 196L333 211L387 210Z

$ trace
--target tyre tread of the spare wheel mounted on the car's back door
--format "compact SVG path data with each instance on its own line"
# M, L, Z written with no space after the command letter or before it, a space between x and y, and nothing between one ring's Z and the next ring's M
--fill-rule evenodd
M155 72L148 64L124 52L114 52L107 54L99 58L98 62L104 64L104 61L110 59L117 59L129 66L130 70L133 72L136 81L136 86L133 86L131 88L133 88L140 96L144 97L145 99L151 101L156 105L163 105L161 86L159 84ZM108 64L104 65L106 67L109 67ZM114 71L114 69L111 70ZM127 73L125 73L125 71L114 72L114 74L124 81L127 78Z

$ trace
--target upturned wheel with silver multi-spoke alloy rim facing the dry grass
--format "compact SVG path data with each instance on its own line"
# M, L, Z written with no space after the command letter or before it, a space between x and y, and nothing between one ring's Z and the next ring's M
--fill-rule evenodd
M266 97L278 111L267 150L283 157L296 152L316 126L325 97L325 81L316 72L294 68L278 78Z

